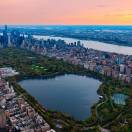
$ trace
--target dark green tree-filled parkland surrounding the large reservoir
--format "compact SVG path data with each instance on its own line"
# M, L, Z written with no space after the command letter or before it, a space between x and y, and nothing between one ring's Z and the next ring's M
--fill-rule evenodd
M13 67L20 75L7 78L14 86L16 92L27 100L34 109L46 119L54 128L61 124L62 131L93 131L98 132L100 127L110 129L113 132L132 131L132 86L119 80L104 77L99 73L91 72L81 66L75 66L64 62L41 56L22 49L0 49L0 67ZM100 79L102 84L98 93L103 96L92 108L92 115L85 121L77 121L66 114L50 111L44 108L34 97L29 95L17 81L33 77L54 77L60 74L79 74ZM112 95L122 93L128 95L126 105L114 104ZM58 130L58 129L57 129Z

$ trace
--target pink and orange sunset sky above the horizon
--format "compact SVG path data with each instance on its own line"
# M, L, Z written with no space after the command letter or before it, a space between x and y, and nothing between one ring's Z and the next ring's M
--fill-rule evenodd
M0 0L0 24L132 25L132 0Z

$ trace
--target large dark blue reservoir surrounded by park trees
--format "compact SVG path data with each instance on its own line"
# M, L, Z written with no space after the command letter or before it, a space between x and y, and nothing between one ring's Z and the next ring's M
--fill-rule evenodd
M84 120L99 100L97 90L101 82L86 76L62 75L52 79L23 80L19 84L46 108Z

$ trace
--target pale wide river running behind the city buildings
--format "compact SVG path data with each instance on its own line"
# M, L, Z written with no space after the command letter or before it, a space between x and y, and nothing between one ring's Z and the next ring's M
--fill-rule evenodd
M79 40L79 39L66 38L66 37L52 37L52 36L39 36L39 35L33 35L33 37L37 39L44 39L44 40L61 39L61 40L64 40L66 43L74 43L77 41L81 41L81 44L83 44L84 47L86 48L91 48L91 49L106 51L106 52L114 52L114 53L124 54L124 55L132 55L132 47L128 47L128 46L119 46L114 44L98 42L98 41Z

